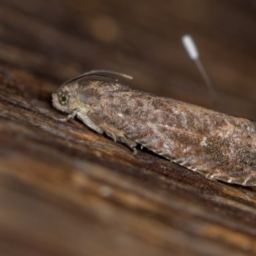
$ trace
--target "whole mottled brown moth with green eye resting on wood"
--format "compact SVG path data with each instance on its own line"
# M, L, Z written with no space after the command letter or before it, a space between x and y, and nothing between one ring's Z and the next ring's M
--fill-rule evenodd
M111 72L114 73L115 72ZM209 179L256 185L256 122L131 90L97 70L62 84L55 108L100 134L136 145Z

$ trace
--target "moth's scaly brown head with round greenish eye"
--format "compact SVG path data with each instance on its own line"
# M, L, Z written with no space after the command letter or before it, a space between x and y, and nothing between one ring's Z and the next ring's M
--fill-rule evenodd
M61 86L57 93L52 94L52 105L54 108L71 113L77 108L77 89L76 84Z

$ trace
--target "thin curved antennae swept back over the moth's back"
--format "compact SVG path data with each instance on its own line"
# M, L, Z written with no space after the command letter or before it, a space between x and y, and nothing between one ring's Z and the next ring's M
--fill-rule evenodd
M71 84L71 83L74 83L74 82L79 81L81 79L83 79L84 81L90 81L90 80L102 80L102 81L107 81L107 82L109 80L116 81L116 82L118 81L118 79L116 79L116 78L113 78L111 76L102 75L102 74L99 74L99 73L115 74L115 75L118 75L118 76L125 77L127 79L132 79L131 76L128 76L128 75L125 75L125 74L122 74L122 73L119 73L119 72L111 71L111 70L92 70L92 71L83 73L80 76L77 76L73 79L68 80L63 85Z

